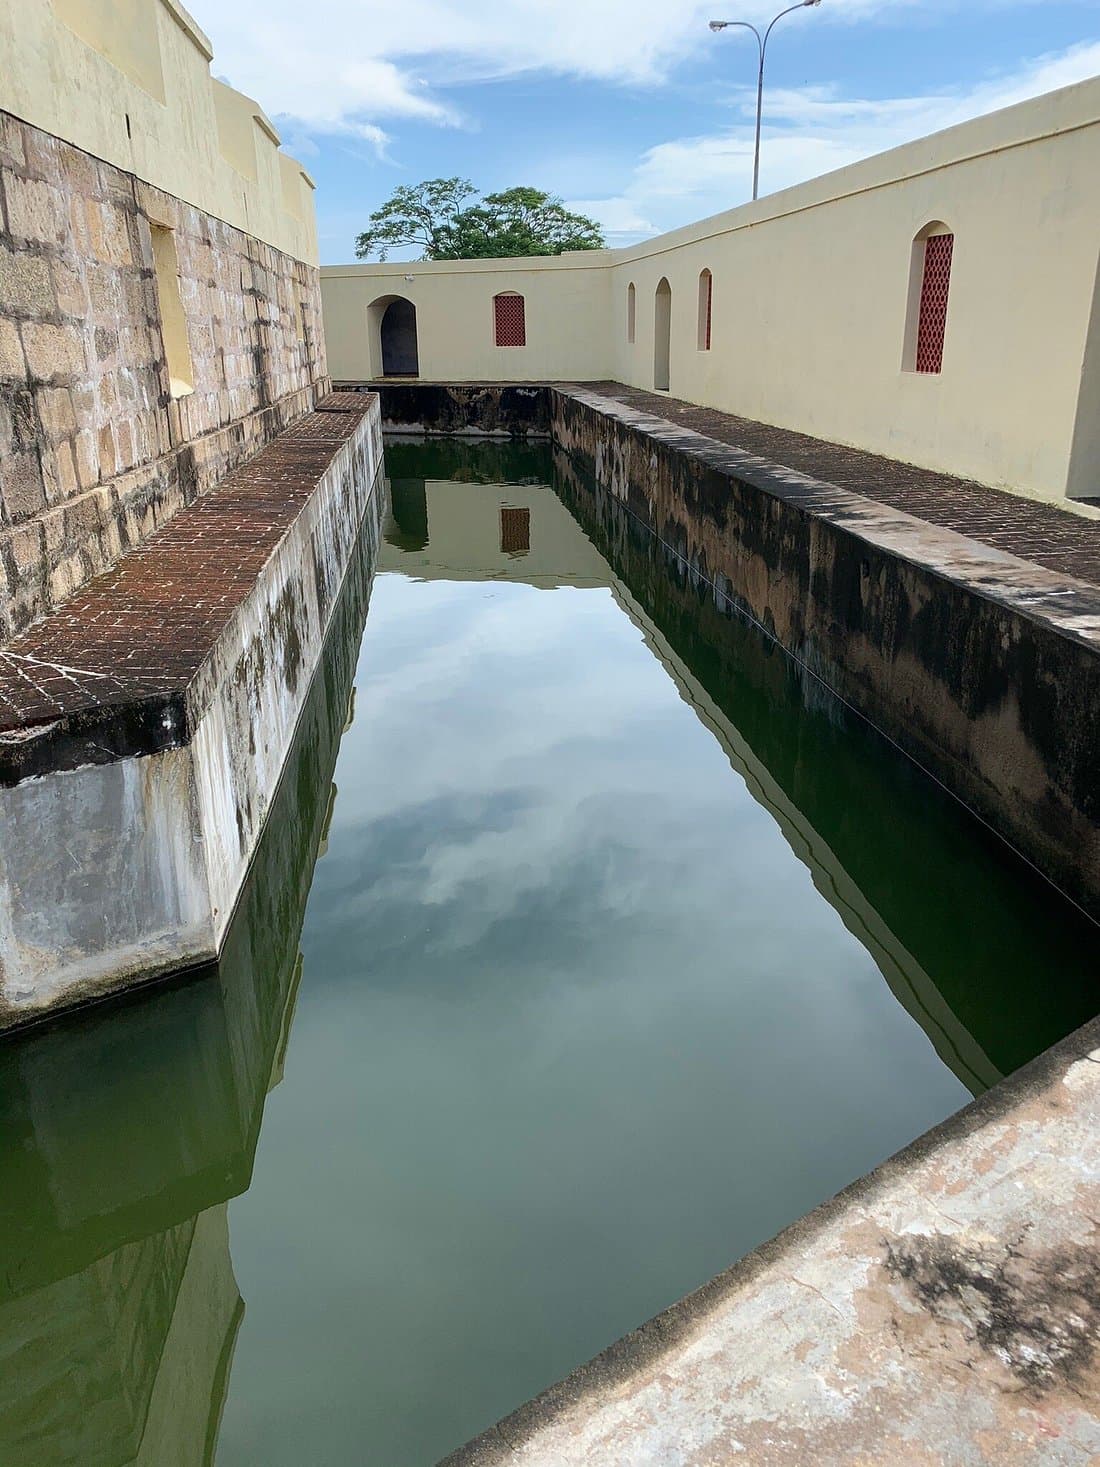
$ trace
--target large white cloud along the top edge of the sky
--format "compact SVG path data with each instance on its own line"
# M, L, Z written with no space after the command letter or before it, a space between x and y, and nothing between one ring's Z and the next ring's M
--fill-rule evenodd
M219 72L267 111L384 147L393 119L453 125L439 94L458 81L551 72L607 82L660 81L713 44L705 19L725 0L189 0ZM997 6L1009 0L971 0ZM1015 4L1041 0L1012 0ZM959 0L829 0L826 23ZM739 0L767 21L774 0ZM795 18L798 19L798 18ZM818 19L807 23L821 23Z

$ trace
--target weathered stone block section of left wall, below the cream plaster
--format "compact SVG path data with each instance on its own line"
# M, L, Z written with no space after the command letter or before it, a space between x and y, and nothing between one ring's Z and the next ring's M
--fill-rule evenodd
M194 390L153 254L172 230ZM314 266L0 113L0 641L312 406Z

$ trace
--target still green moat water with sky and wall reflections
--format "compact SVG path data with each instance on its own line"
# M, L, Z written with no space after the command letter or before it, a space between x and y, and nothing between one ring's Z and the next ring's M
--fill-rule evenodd
M219 970L0 1046L4 1467L427 1467L1099 1006L549 449L387 462Z

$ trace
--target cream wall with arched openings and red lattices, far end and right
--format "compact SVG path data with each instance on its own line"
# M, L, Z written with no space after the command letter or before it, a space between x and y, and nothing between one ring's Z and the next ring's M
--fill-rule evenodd
M377 376L374 302L399 295L417 307L421 377L653 389L667 280L673 396L989 484L1097 496L1097 180L1093 79L629 249L324 267L330 370ZM930 224L955 235L936 376L903 365L914 241ZM500 290L525 296L525 348L493 345Z

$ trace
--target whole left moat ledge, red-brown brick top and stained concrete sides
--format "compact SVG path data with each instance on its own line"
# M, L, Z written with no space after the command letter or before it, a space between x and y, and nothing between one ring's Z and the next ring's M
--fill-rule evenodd
M0 648L0 1028L219 955L380 477L331 395Z

